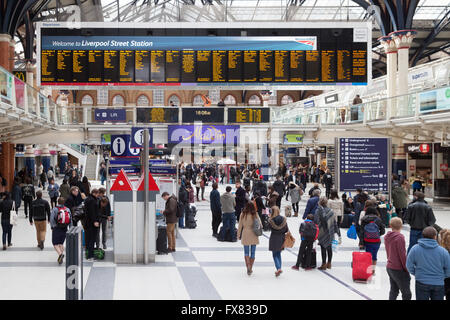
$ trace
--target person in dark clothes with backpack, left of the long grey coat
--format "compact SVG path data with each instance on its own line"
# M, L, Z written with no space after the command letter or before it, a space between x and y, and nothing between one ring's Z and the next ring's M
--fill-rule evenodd
M306 220L300 224L299 231L302 242L298 250L297 263L291 268L299 270L300 266L302 266L305 270L311 270L312 265L315 265L315 261L311 261L314 241L319 236L319 227L314 223L313 214L308 214Z

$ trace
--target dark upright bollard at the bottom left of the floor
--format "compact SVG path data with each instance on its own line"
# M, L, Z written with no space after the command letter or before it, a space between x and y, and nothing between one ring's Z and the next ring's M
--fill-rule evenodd
M66 233L66 300L83 300L82 228L70 227Z

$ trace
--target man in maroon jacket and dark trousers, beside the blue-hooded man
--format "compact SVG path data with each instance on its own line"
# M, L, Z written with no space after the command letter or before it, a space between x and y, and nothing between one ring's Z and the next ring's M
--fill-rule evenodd
M387 254L386 271L391 284L389 300L397 300L399 291L402 293L403 300L411 300L411 276L406 268L406 243L405 237L401 233L402 219L399 217L392 218L390 226L392 231L384 236Z

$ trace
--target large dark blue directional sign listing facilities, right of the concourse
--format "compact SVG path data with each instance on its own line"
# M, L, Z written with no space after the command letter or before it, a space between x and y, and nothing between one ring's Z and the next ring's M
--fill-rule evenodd
M340 138L340 191L388 191L389 157L387 138Z

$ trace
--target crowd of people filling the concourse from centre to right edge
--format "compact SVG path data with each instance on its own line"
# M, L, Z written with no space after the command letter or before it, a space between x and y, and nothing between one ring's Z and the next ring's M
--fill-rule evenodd
M316 240L322 258L318 269L331 269L334 247L342 243L341 228L353 225L358 248L370 253L372 258L372 273L375 273L384 235L391 287L389 299L396 299L399 292L404 300L411 299L411 274L416 280L417 299L440 300L444 296L448 299L450 230L436 224L433 209L427 204L425 195L416 191L410 202L402 177L393 175L391 197L361 189L357 189L353 197L347 194L340 197L338 191L333 189L330 171L325 169L321 173L317 168L311 169L309 175L304 168L290 170L285 175L287 178L283 179L281 167L275 181L267 184L263 176L257 175L259 168L251 170L237 166L234 190L227 186L225 192L220 194L220 167L216 170L214 166L186 166L181 171L179 198L163 194L167 201L164 215L170 217L170 251L175 251L175 225L178 223L180 228L184 227L183 212L194 202L194 197L189 196L194 193L192 185L195 183L197 188L197 201L204 201L204 188L210 181L212 236L219 241L241 240L247 273L251 275L259 236L262 230L270 231L269 250L273 255L275 276L278 277L283 272L281 252L287 247L286 242L290 237L287 217L291 210L293 216L298 217L298 203L308 194L299 229L301 244L293 270L299 270L300 267L311 270L315 267L313 248ZM313 184L306 191L308 181ZM325 195L322 195L319 183L323 183ZM201 200L198 197L199 189L202 191ZM285 214L282 215L281 200L284 196L286 200L291 199L291 205L285 206ZM177 210L181 211L178 216ZM404 224L410 226L408 248L401 233Z

